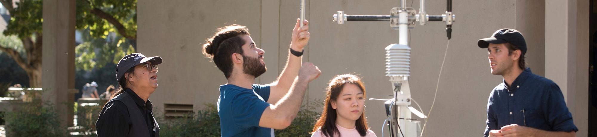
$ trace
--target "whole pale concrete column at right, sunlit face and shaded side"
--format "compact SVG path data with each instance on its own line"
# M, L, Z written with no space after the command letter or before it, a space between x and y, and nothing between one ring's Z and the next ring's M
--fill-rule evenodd
M587 135L588 3L550 0L545 4L545 77L562 89L578 136Z

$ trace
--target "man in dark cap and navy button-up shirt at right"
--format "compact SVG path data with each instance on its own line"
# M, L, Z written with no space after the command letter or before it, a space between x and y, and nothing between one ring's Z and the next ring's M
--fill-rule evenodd
M525 69L527 45L518 30L497 30L478 46L489 52L491 74L504 77L489 96L484 136L576 136L558 85Z

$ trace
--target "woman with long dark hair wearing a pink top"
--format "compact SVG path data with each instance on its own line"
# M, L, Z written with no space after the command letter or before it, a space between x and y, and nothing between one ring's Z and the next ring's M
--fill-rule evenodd
M324 111L313 127L313 136L376 136L365 117L365 85L353 74L330 80Z

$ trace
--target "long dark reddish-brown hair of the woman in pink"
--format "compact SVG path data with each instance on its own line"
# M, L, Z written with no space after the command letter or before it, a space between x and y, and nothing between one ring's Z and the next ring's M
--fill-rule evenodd
M321 113L321 117L319 117L317 122L315 122L315 126L313 126L313 132L316 132L319 129L322 133L324 133L324 135L334 136L334 134L338 134L338 136L340 136L340 131L338 131L338 128L336 127L336 109L332 108L331 102L338 99L338 95L340 95L340 92L346 84L354 84L358 86L361 91L363 91L363 96L365 98L367 97L365 85L361 81L361 78L353 74L342 74L334 77L330 80L330 85L325 93L326 97L324 111ZM361 117L356 120L355 126L356 130L359 132L359 135L367 135L367 130L369 127L367 125L365 111L363 111Z

